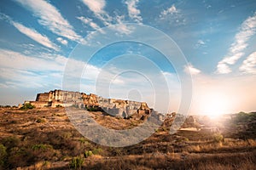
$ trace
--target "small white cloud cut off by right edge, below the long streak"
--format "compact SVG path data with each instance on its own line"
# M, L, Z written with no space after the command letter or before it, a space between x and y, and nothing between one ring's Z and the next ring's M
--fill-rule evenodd
M242 65L239 67L239 70L244 73L253 73L256 74L256 52L250 54L247 59L242 62Z

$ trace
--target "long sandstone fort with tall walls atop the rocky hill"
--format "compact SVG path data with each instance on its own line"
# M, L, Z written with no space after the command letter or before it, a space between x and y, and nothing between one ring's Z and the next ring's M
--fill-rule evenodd
M136 116L142 119L154 112L146 102L138 102L124 99L107 99L96 94L84 94L80 92L53 90L44 94L38 94L35 101L25 101L36 108L75 106L90 111L105 111L112 116L129 117Z

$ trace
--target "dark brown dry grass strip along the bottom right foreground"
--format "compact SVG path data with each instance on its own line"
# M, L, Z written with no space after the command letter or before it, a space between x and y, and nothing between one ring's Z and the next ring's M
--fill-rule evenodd
M122 156L95 163L86 163L89 169L255 169L255 152L249 154L189 155L147 154L143 156Z

